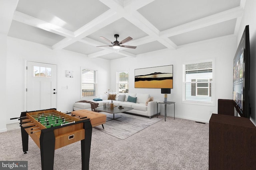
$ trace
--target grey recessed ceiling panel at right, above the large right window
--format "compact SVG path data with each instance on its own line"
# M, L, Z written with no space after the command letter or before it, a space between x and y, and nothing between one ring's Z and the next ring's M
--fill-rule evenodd
M197 41L203 41L206 39L212 39L215 37L222 37L225 35L234 34L234 28L236 25L236 19L221 22L218 24L210 25L208 27L196 29L179 35L169 37L176 45L184 45L188 43L194 43Z

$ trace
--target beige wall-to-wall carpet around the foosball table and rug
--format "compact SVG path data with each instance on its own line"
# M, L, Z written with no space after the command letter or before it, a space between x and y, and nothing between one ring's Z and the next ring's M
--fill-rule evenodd
M90 170L208 170L209 124L160 117L124 140L92 128ZM41 169L40 149L30 137L23 154L20 129L0 133L0 139L0 160ZM55 150L54 170L81 170L80 142Z

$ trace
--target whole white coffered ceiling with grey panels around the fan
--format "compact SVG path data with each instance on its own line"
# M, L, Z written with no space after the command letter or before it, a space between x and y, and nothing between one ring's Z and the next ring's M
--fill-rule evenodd
M245 0L18 0L8 36L108 60L236 35ZM114 52L100 37L133 39Z

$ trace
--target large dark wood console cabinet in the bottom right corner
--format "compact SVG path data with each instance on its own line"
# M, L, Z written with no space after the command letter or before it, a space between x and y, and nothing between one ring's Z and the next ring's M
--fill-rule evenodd
M250 119L212 114L209 170L256 170L256 127Z

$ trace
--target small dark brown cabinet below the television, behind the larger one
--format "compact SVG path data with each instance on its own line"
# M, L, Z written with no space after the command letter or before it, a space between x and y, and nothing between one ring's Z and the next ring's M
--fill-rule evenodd
M234 116L234 102L228 99L218 99L218 114Z

